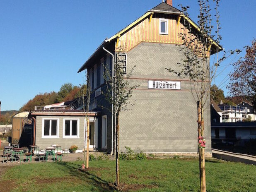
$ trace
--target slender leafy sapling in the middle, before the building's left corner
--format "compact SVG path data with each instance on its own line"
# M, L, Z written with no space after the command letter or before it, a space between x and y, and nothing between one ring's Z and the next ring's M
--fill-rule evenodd
M111 113L114 113L116 117L116 186L119 185L119 115L123 110L128 110L130 103L129 98L132 96L133 89L136 89L139 85L130 85L129 78L133 72L134 67L130 72L126 73L126 58L125 58L125 46L118 47L119 52L116 53L114 58L114 78L111 76L109 67L105 66L104 79L107 84L106 88L106 100L113 105L114 111L110 109ZM114 94L112 94L112 91Z

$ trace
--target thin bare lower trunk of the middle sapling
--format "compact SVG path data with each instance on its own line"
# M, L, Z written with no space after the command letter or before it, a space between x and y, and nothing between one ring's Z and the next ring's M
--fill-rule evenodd
M116 186L119 185L119 114L116 115Z

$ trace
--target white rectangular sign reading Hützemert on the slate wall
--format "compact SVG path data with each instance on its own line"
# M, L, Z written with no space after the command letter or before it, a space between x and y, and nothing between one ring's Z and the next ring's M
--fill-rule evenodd
M148 80L148 89L181 89L181 82Z

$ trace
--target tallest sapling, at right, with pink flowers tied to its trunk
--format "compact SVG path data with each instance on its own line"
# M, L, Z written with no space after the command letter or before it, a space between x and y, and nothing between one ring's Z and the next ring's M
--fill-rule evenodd
M223 55L219 57L219 52L222 50L218 12L220 0L213 0L213 2L215 2L215 33L213 32L213 16L208 0L198 0L200 7L198 26L195 26L189 19L189 7L181 5L183 11L181 24L184 32L179 34L183 41L182 45L179 45L179 50L184 54L184 58L177 63L180 67L179 71L167 68L169 72L190 80L190 91L197 104L200 192L206 192L204 110L209 105L210 84L215 78L220 63L230 55L240 52L239 50L224 51ZM213 38L216 40L213 41ZM210 65L211 53L215 53L215 57L213 64Z

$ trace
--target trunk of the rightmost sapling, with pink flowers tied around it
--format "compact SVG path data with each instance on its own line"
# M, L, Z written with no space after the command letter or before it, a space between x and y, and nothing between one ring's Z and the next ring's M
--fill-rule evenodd
M203 137L204 122L203 122L203 108L201 102L197 102L198 110L198 137ZM205 148L199 148L199 173L200 173L200 192L206 192L205 180Z

